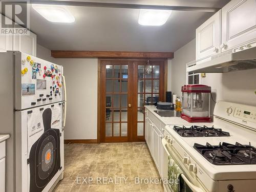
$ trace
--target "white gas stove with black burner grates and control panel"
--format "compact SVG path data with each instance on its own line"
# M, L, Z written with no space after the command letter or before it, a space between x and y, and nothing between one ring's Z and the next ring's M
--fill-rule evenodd
M209 131L191 127L192 133L186 133L191 125L165 126L162 143L183 170L190 188L256 191L256 107L219 101L212 125L207 125Z

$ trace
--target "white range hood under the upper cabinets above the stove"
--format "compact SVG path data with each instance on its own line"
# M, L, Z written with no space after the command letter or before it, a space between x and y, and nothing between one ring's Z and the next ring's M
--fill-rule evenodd
M232 50L231 50L232 51ZM187 68L194 73L227 73L256 69L256 47L235 53L220 53L211 56L211 60Z

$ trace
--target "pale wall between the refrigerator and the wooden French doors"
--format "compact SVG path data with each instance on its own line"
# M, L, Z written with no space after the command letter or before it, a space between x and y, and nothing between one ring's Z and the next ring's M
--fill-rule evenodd
M65 139L97 139L97 58L55 59L37 45L37 57L63 66L67 85Z

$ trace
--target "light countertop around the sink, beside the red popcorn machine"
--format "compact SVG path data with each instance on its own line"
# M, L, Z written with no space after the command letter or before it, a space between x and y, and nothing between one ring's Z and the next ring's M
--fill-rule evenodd
M150 111L152 114L154 114L165 125L167 125L167 124L173 124L173 125L191 124L180 117L161 117L160 115L158 115L157 113L154 112L155 110L158 110L155 105L145 105L145 108L148 111Z

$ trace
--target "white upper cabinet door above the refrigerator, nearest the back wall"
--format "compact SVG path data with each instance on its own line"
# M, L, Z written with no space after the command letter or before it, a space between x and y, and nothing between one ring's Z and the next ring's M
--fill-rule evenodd
M36 57L36 34L30 32L30 35L14 35L13 50Z

